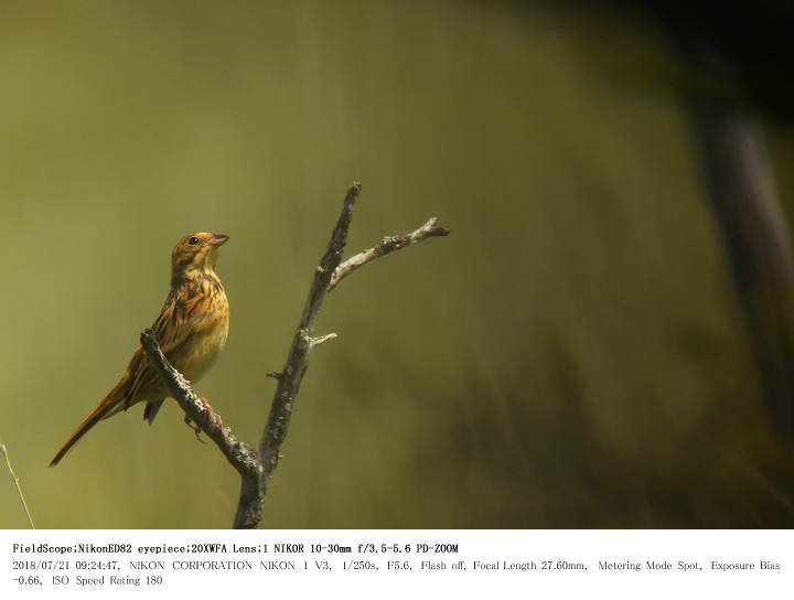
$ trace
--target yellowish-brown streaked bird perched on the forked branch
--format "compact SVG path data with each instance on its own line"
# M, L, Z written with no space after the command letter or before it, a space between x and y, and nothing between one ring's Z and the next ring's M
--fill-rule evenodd
M171 289L151 328L168 361L193 383L212 368L228 336L228 299L215 272L218 248L228 238L202 232L176 244L171 254ZM132 405L146 403L143 420L151 425L169 395L165 382L139 346L121 379L66 440L50 467L61 462L100 420Z

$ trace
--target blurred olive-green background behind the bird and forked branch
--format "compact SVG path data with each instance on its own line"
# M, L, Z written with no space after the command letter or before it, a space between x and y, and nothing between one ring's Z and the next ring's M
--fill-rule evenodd
M237 476L175 403L47 463L194 231L232 236L198 392L257 440L353 180L351 250L431 215L453 235L329 297L318 333L340 339L264 526L794 525L794 444L653 30L437 0L1 7L0 436L37 526L229 526ZM794 137L765 132L791 217ZM24 526L3 470L0 527Z

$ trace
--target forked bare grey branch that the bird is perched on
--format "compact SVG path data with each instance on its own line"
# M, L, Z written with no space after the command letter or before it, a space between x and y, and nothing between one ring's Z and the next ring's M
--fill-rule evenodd
M267 374L268 377L275 378L278 385L268 422L259 440L258 452L235 438L230 430L224 427L221 417L213 410L210 403L196 396L190 383L169 364L152 332L146 330L141 334L141 344L147 355L157 365L168 383L171 394L176 398L189 419L215 442L226 460L240 475L240 496L234 521L235 528L259 526L262 518L262 504L270 488L273 471L281 458L281 446L287 438L294 399L309 366L309 353L313 347L336 338L335 333L313 336L314 324L325 294L347 275L376 258L430 237L449 235L448 229L436 225L437 219L433 217L415 232L385 237L374 248L358 253L342 262L342 251L347 242L353 206L360 194L360 183L354 183L347 190L342 213L331 234L328 249L314 270L314 277L309 288L309 298L296 328L285 367L281 372Z

